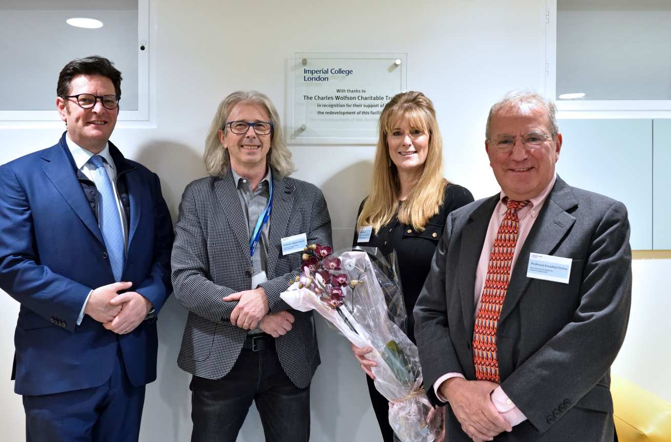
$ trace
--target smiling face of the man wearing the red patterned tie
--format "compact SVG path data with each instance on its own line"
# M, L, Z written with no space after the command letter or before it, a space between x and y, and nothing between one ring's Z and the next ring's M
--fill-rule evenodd
M496 140L502 135L515 136L510 152L500 152L489 142L484 147L494 175L509 198L525 201L537 197L550 184L554 166L562 148L562 134L548 139L535 149L523 146L521 138L530 132L552 134L550 118L545 109L515 105L493 115L489 137Z

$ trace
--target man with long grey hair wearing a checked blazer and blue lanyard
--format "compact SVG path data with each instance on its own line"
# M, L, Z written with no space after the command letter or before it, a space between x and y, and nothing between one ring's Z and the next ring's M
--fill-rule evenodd
M311 312L280 292L303 247L331 245L319 188L294 166L266 95L221 101L205 147L209 176L184 191L172 282L189 310L178 365L193 374L192 441L235 441L252 401L268 441L305 441L319 351Z

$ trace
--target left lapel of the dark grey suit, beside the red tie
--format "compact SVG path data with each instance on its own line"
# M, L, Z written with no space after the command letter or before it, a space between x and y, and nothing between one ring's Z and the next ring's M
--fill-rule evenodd
M459 292L462 300L462 313L466 330L470 333L474 327L475 317L475 274L487 234L489 220L497 203L499 195L486 199L475 209L464 226L459 257Z

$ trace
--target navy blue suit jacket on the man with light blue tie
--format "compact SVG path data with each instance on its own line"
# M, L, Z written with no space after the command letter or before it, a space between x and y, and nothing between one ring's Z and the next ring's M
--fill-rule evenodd
M125 180L130 222L121 280L156 313L170 294L173 231L158 176L109 143ZM56 145L0 166L0 288L21 303L15 333L15 392L51 394L100 386L121 348L130 381L156 379L156 320L127 335L85 315L93 288L114 282L105 242L77 179L65 134ZM117 345L118 341L118 345Z

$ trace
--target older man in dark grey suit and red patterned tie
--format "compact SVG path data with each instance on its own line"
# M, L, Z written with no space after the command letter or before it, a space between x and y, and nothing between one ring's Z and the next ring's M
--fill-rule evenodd
M448 217L415 307L450 441L613 441L610 367L631 303L622 203L569 186L555 107L507 96L485 149L501 186Z

